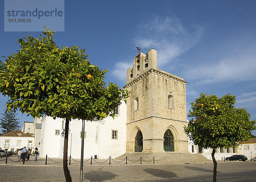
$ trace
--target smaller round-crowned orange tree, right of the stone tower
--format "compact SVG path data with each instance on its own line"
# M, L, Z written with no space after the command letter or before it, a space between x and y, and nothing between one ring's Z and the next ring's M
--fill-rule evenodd
M235 108L235 96L227 94L218 98L216 95L200 94L191 103L188 126L185 133L195 145L212 148L213 181L216 182L216 148L236 147L239 141L250 138L250 131L256 127L255 120L250 121L250 114L245 108Z

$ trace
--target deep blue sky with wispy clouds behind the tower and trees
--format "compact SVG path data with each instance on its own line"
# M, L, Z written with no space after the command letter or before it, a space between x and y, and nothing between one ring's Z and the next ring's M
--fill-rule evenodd
M236 95L236 107L247 108L254 120L255 9L255 0L66 0L65 31L55 33L55 42L85 48L91 63L109 70L106 82L120 87L138 53L136 46L144 53L154 48L158 67L188 82L188 111L200 93L230 93ZM0 10L3 17L3 1ZM1 21L0 56L15 53L17 40L25 34L39 36L39 32L5 32ZM6 100L0 97L1 113ZM33 121L26 114L18 117L22 123Z

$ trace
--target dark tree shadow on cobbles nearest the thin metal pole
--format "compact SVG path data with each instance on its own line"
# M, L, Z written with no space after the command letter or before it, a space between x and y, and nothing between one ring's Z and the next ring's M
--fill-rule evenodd
M113 179L117 175L108 171L90 171L84 173L84 178L92 182L102 182L108 179Z

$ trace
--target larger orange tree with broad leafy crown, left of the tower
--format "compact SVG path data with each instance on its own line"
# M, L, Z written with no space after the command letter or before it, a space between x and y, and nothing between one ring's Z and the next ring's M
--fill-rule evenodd
M0 65L0 91L8 96L9 109L32 117L65 118L63 168L67 168L67 142L71 119L114 117L116 107L126 101L128 92L104 82L107 70L90 64L84 49L56 46L54 31L45 29L40 37L19 39L20 50Z

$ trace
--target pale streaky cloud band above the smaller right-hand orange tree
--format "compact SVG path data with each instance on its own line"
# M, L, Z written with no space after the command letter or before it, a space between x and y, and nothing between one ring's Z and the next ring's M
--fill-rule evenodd
M256 55L244 55L216 61L201 63L201 65L187 65L186 77L199 83L221 81L256 80ZM204 64L204 65L202 65Z

